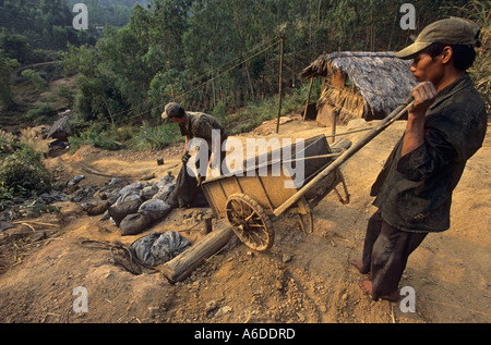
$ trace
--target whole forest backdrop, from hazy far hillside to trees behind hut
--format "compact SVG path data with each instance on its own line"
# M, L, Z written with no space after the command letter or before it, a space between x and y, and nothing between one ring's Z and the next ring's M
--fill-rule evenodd
M405 0L86 0L89 29L71 27L77 0L0 0L0 100L12 104L16 63L43 59L39 49L64 51L68 95L80 122L155 124L164 104L229 112L263 102L279 89L279 37L285 37L283 89L306 87L301 70L323 52L397 50L429 23L459 15L487 28L487 1L418 0L416 30L399 25ZM105 26L104 34L95 30ZM67 47L68 45L68 47ZM476 65L489 89L488 53ZM41 90L44 83L25 72ZM65 93L67 94L67 93Z

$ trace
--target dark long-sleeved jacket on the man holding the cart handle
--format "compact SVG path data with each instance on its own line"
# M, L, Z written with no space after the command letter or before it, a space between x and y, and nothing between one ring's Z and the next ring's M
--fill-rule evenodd
M484 102L466 74L428 109L424 144L400 157L403 136L387 158L371 192L383 219L402 231L447 230L452 193L486 131Z

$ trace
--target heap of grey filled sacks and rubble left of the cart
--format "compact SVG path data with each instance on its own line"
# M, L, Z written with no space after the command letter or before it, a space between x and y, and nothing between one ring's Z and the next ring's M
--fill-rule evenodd
M35 198L17 200L1 210L3 221L0 232L10 227L10 221L20 218L39 217L56 212L52 206L58 201L71 201L82 206L88 215L100 215L101 221L110 221L119 226L121 235L136 235L161 220L172 208L171 192L176 188L176 177L170 172L158 182L135 182L115 177L100 186L81 184L84 175L74 176L63 189L50 190ZM176 194L176 193L175 193Z

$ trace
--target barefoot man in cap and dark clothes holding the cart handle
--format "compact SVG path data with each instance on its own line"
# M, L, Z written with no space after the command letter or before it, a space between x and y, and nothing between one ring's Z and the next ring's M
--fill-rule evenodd
M396 53L414 59L410 71L420 84L406 131L371 189L378 211L362 258L349 261L368 274L359 285L374 300L396 300L409 255L429 233L450 227L453 190L487 131L484 102L466 72L479 46L479 27L451 17L428 25Z

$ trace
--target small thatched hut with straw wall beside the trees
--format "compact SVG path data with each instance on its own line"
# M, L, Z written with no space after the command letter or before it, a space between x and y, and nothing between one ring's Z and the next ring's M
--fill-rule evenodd
M347 123L380 119L399 106L416 86L410 66L411 61L394 52L334 52L319 57L300 75L325 78L318 122L321 116L324 122Z

